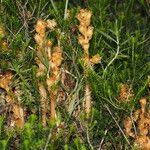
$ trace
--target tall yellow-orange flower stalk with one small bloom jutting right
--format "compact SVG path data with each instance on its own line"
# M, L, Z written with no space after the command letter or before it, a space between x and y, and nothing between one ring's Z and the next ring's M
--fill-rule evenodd
M90 58L89 56L89 47L90 47L90 40L92 39L93 35L93 27L90 25L91 23L91 17L92 17L92 12L87 9L81 9L79 14L77 15L77 19L79 20L80 24L78 26L78 29L80 31L80 35L78 37L78 41L80 45L83 48L84 51L84 76L85 78L88 76L88 70L92 66L92 64L97 64L100 62L101 57L99 54L93 56ZM85 112L88 115L91 111L91 89L90 85L88 82L86 82L85 85Z

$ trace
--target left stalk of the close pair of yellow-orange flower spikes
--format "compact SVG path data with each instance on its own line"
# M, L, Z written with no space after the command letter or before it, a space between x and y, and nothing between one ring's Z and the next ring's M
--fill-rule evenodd
M45 70L46 67L43 64L41 57L45 53L45 45L46 45L46 26L47 23L43 20L38 20L37 24L35 26L36 34L35 34L35 41L37 44L37 57L36 57L36 63L38 64L38 70L37 70L37 77L45 76ZM39 81L38 83L39 93L40 93L40 105L41 105L41 118L42 118L42 125L46 126L46 89L44 87L44 83L42 81Z

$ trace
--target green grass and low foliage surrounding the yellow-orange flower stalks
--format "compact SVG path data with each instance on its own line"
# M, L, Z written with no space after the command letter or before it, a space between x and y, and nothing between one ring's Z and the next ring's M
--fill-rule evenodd
M64 19L67 7L70 19ZM79 23L75 16L80 8L88 8L93 13L90 55L98 53L102 57L101 63L89 70L87 79L83 78L83 50L77 41ZM31 15L27 16L29 12ZM60 126L49 123L44 128L41 125L34 41L34 26L39 18L56 19L64 32L62 66L69 71L69 82L76 86L68 85L62 87L63 90L77 96L82 105L85 80L91 85L93 107L89 120L85 120L83 111L78 118L72 115L78 106L75 98L67 112L66 97L63 104L57 105ZM9 111L0 114L1 149L94 150L101 146L112 150L132 149L132 139L123 134L123 120L139 108L141 97L146 96L149 102L149 19L150 3L144 0L72 0L68 4L65 0L2 0L0 24L7 35L0 41L7 41L8 48L0 46L0 71L14 73L11 86L19 86L27 116L23 129L11 129L7 126ZM48 35L54 43L56 34L54 31ZM130 85L134 92L128 103L118 100L122 83Z

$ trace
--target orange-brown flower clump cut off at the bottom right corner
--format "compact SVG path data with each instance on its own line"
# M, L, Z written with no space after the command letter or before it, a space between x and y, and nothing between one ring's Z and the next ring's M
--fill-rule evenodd
M141 109L134 112L133 117L127 117L124 121L125 133L134 139L134 146L141 150L150 149L150 111L146 111L146 98L140 99ZM136 132L133 125L137 124Z

